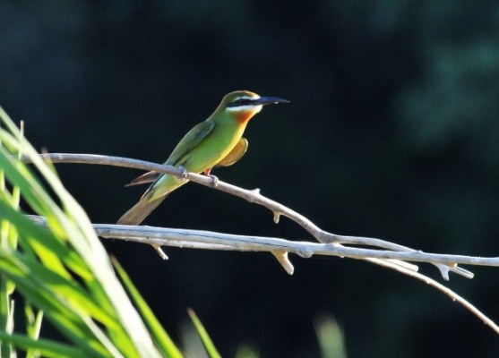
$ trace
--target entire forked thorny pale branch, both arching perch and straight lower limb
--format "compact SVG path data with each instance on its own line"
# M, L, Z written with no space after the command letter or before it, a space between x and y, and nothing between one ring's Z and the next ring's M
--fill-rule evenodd
M308 258L312 255L330 255L357 260L366 260L385 268L391 268L410 277L417 278L427 285L448 295L453 301L462 304L473 312L487 326L499 334L499 327L489 320L481 311L478 311L460 295L455 294L449 288L417 273L417 266L409 262L427 262L436 266L445 280L449 279L449 271L463 277L472 278L473 274L458 264L499 266L499 258L480 258L462 255L448 255L426 253L417 251L407 246L391 243L376 238L346 236L331 234L314 225L312 221L288 207L266 198L260 194L259 189L245 190L235 185L218 181L213 186L211 177L186 173L181 168L164 166L142 160L131 158L108 157L91 154L65 154L49 153L42 154L42 158L52 163L83 163L106 166L124 166L142 170L155 170L160 173L178 175L186 180L200 183L205 186L214 187L221 192L228 192L240 198L260 204L270 209L274 215L274 222L279 223L280 216L288 217L299 226L314 236L319 243L288 241L280 238L242 236L232 234L220 234L196 230L180 230L172 228L159 228L151 226L116 226L96 224L94 228L101 237L131 240L139 243L159 243L165 246L177 246L185 248L197 248L208 250L231 250L231 251L270 251L280 262L288 274L293 273L293 266L288 260L288 252L295 253L301 257ZM27 158L24 158L28 161ZM37 221L43 221L39 217L33 217ZM355 247L361 246L361 247ZM370 248L366 248L370 247ZM382 249L382 250L379 250Z

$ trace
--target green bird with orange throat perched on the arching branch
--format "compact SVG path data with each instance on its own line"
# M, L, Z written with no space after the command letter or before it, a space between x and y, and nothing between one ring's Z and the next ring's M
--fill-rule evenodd
M176 166L182 171L211 175L218 166L232 166L245 155L248 141L243 138L246 124L262 110L263 106L289 103L287 99L260 97L249 90L236 90L225 95L215 111L197 124L178 142L165 165ZM125 186L151 183L142 198L117 221L118 225L139 225L165 200L170 192L187 183L178 175L148 172L133 179ZM152 245L159 256L167 259L159 245Z

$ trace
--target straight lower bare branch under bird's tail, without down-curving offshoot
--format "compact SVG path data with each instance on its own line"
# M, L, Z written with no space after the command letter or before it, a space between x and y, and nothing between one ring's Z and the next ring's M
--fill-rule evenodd
M45 218L30 215L30 219L46 226ZM470 257L428 253L422 251L387 251L373 250L338 243L310 243L307 241L289 241L278 237L222 234L212 231L176 229L155 226L127 226L113 224L93 224L96 233L106 239L120 239L136 243L149 243L161 246L175 246L195 249L230 250L230 251L267 251L295 253L302 258L313 255L336 256L340 258L363 260L366 258L399 260L426 263L466 264L499 267L499 258ZM403 266L403 265L401 265ZM407 269L417 271L414 265Z

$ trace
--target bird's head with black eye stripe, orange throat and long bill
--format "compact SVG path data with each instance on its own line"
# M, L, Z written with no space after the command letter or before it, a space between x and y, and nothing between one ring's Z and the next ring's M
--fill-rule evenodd
M262 110L265 105L289 103L288 99L260 97L249 90L237 90L228 93L220 102L218 110L233 115L238 122L245 123Z

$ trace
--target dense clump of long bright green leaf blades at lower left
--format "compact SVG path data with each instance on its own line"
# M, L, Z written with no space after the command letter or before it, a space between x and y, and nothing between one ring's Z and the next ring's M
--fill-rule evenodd
M0 128L2 355L11 356L12 346L16 346L33 357L180 356L175 345L164 344L168 336L159 324L154 327L154 337L151 336L119 284L82 208L22 137L22 132L3 111L0 115L4 124ZM29 158L45 185L19 160L21 155ZM13 184L12 191L4 177ZM17 204L19 192L27 207L46 217L48 229L23 215ZM22 250L16 250L17 242ZM12 334L14 289L30 303L25 306L26 335ZM42 311L65 337L65 343L39 338ZM148 321L151 317L150 312ZM155 339L158 337L161 340ZM157 346L161 347L161 354Z

